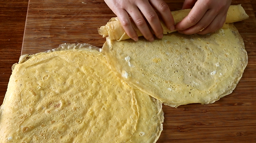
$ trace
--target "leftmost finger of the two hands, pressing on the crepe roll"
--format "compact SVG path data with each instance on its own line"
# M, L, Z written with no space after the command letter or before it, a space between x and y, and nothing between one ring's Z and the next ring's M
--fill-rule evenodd
M132 27L132 23L130 21L128 13L125 10L120 9L116 12L116 16L118 17L118 20L120 21L127 35L134 41L138 41L138 35L134 28Z

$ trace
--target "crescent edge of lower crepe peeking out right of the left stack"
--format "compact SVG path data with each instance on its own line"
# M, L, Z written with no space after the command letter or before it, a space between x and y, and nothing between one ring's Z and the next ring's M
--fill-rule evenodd
M138 89L134 91L139 119L131 143L155 143L163 130L162 103Z

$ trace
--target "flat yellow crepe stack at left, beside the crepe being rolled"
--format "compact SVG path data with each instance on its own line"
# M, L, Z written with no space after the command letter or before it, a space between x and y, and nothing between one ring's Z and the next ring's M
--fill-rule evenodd
M97 47L62 44L13 68L1 143L153 143L162 131L161 102L116 77Z

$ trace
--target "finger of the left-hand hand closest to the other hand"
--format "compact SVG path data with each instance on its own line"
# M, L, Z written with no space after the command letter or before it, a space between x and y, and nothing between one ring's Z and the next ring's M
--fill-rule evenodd
M167 28L171 31L174 31L175 23L169 6L163 0L149 0L149 2L153 6L153 8L155 8L155 10L160 13L161 18L165 22Z

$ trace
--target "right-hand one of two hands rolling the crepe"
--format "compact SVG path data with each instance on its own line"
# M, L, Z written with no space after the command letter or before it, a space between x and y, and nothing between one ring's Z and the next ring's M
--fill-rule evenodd
M192 8L188 16L175 25L184 34L207 34L225 23L232 0L185 0L182 9Z

